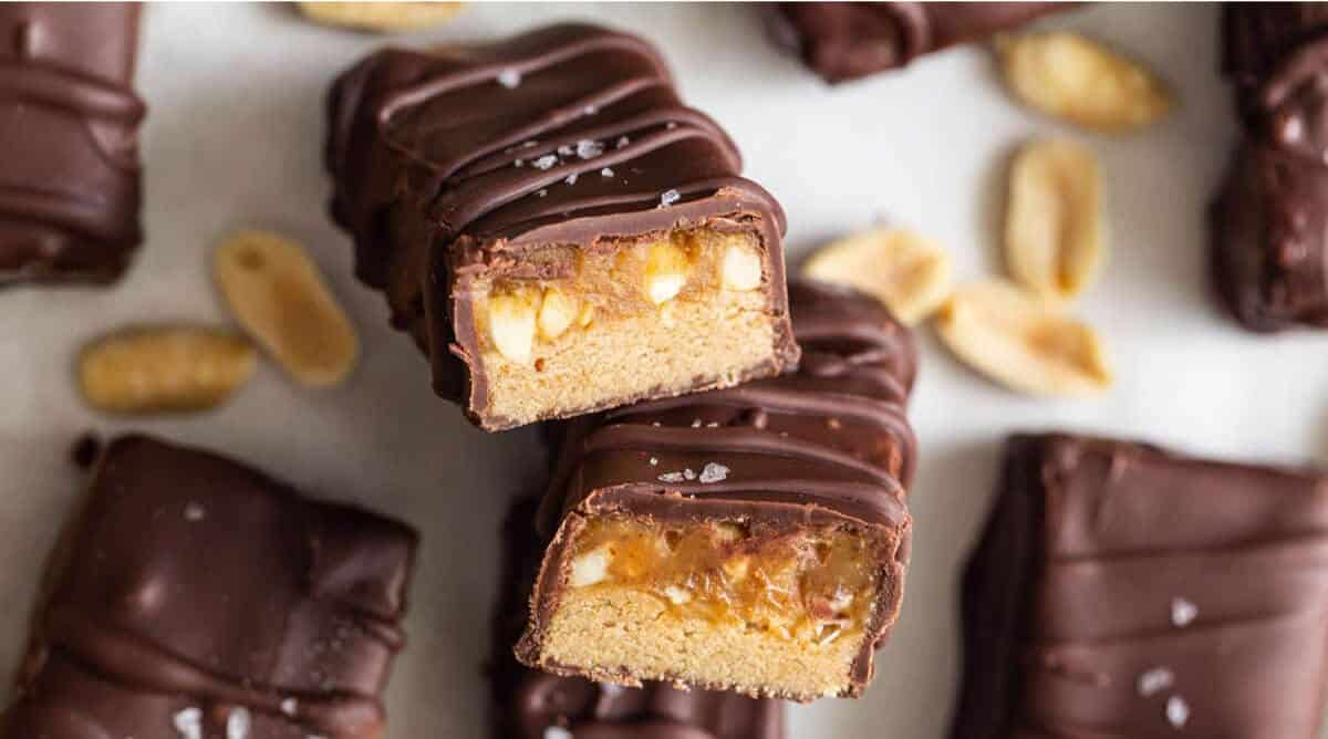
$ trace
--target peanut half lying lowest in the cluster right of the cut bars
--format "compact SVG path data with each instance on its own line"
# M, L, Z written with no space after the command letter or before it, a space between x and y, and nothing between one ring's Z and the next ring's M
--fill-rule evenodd
M1106 349L1090 326L1004 280L956 291L936 329L955 356L1015 390L1088 395L1112 385Z

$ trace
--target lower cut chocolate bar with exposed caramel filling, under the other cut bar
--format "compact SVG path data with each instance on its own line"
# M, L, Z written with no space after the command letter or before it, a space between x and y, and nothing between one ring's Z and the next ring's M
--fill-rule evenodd
M797 373L570 425L517 655L555 674L858 695L903 594L912 336L791 284Z

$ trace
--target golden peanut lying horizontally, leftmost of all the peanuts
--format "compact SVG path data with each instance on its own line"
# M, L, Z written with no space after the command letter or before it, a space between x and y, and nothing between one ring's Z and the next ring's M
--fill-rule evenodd
M226 402L254 374L243 337L199 328L138 328L89 344L78 358L84 398L109 413L195 411Z

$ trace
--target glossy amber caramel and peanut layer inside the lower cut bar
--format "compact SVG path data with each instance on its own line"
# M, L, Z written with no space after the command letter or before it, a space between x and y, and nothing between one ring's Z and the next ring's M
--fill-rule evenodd
M684 618L830 643L866 629L874 560L865 537L834 527L752 535L734 523L608 517L576 536L567 586L644 590Z

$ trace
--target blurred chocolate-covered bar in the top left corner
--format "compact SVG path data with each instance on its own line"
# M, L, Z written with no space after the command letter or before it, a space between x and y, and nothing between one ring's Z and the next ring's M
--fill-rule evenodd
M0 287L109 283L142 240L138 11L0 5Z

